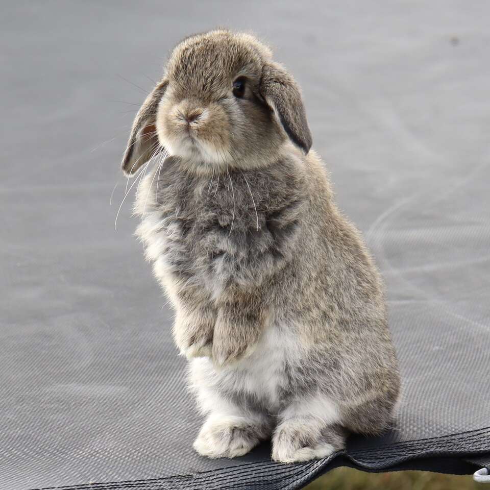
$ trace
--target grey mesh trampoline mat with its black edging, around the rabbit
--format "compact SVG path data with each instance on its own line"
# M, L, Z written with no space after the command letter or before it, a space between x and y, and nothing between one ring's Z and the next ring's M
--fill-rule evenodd
M0 490L292 489L335 464L490 464L488 14L462 1L4 6ZM295 74L339 205L386 280L400 414L328 460L194 453L202 419L131 194L114 230L150 78L180 38L217 25L255 30Z

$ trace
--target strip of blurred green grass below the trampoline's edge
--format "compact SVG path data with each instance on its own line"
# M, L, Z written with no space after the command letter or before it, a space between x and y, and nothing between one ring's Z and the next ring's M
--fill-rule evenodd
M483 487L485 485L473 481L472 475L442 475L426 471L365 473L351 468L337 468L305 488L306 490L483 490Z

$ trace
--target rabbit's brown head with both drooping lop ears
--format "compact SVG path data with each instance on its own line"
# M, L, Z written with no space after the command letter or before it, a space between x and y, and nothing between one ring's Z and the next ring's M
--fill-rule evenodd
M287 138L308 153L295 80L255 37L211 31L175 47L136 115L122 169L132 175L163 149L199 173L260 167Z

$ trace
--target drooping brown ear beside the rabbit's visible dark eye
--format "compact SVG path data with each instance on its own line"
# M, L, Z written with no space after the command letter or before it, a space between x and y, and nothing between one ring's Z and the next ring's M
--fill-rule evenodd
M260 93L276 113L291 141L307 154L312 138L295 79L280 64L266 63L262 71Z

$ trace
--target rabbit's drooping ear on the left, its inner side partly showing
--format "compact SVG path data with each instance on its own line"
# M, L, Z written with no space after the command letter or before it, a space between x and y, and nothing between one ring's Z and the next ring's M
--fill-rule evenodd
M133 175L141 165L146 163L159 151L156 132L156 116L160 100L165 93L168 81L163 79L146 97L139 109L131 128L131 134L122 157L121 168L127 176Z

